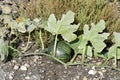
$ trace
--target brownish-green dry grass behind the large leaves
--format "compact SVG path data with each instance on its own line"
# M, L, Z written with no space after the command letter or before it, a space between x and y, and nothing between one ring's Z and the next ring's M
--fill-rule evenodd
M115 0L113 0L115 1ZM20 7L21 15L24 17L42 17L47 19L51 13L60 18L63 13L72 10L76 13L75 21L81 23L80 30L84 24L99 20L106 21L107 30L120 31L120 19L118 18L118 5L107 0L31 0Z

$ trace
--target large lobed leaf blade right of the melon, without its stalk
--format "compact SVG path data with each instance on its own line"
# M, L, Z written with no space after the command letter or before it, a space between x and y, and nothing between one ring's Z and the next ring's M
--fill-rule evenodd
M96 25L94 23L91 24L91 28L89 29L88 25L84 26L84 34L83 34L83 41L87 44L88 41L91 42L94 50L96 52L101 52L105 48L104 40L107 39L109 33L101 33L105 29L105 22L101 20ZM86 42L85 42L86 41ZM81 47L80 44L80 48Z

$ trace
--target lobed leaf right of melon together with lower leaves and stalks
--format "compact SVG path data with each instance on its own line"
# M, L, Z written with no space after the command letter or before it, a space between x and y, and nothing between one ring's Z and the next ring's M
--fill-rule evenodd
M87 24L84 26L83 34L77 38L78 41L70 43L70 46L76 52L72 62L77 54L82 54L83 63L85 55L92 57L93 55L98 56L98 53L101 53L101 51L106 47L104 41L109 36L109 33L103 32L104 29L104 20L101 20L96 25L92 23L91 28Z

